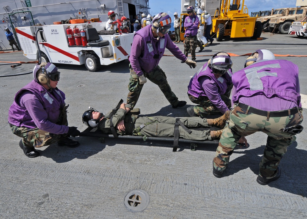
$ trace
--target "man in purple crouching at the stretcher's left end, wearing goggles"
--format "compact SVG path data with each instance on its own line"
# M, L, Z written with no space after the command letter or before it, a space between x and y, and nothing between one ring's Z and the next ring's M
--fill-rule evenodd
M33 81L17 92L9 109L12 132L21 137L20 148L28 157L37 157L34 149L53 143L77 147L79 142L68 138L80 134L77 127L68 127L65 94L57 88L60 72L52 63L37 64Z

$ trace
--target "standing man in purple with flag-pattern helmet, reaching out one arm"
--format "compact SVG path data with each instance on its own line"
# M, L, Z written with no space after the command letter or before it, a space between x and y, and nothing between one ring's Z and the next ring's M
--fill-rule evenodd
M170 28L171 17L167 13L159 13L153 18L152 25L147 25L134 34L129 57L130 82L127 96L127 103L132 108L138 101L146 78L159 86L173 108L185 106L187 103L178 100L166 80L164 71L158 66L167 48L181 63L187 63L191 68L196 67L196 62L185 57L172 42L167 34Z

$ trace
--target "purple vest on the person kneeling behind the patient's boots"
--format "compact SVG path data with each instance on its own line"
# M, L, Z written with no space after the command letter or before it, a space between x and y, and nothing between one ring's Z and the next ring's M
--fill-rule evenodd
M228 70L226 74L223 74L221 77L216 78L212 73L211 69L208 67L207 63L207 65L204 65L202 68L200 68L200 70L190 80L190 83L188 85L188 94L191 94L196 98L199 98L200 96L207 96L199 80L200 77L204 75L208 76L216 83L216 86L218 87L219 93L221 95L226 93L227 86L231 82L231 71Z

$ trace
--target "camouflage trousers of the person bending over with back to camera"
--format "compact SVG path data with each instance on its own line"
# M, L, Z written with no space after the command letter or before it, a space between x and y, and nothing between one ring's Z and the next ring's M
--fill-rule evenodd
M223 171L229 163L229 156L232 154L235 146L241 136L248 136L255 132L263 132L268 135L263 158L259 164L259 175L270 179L277 174L277 167L286 153L287 147L296 139L295 135L283 132L285 127L291 127L301 124L303 115L301 112L284 117L260 116L248 112L234 105L230 113L226 127L223 129L219 146L216 149L216 156L213 159L213 167L218 171ZM286 110L288 112L288 110ZM282 111L277 111L282 112Z

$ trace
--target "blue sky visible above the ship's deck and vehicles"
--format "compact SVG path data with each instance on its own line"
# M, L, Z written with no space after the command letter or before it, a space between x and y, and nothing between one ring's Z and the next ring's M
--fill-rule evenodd
M304 1L307 5L307 0ZM271 10L272 8L296 7L296 0L245 0L244 4L251 15L251 12ZM181 0L150 0L149 7L149 13L153 16L160 12L166 12L170 15L175 12L180 14Z

